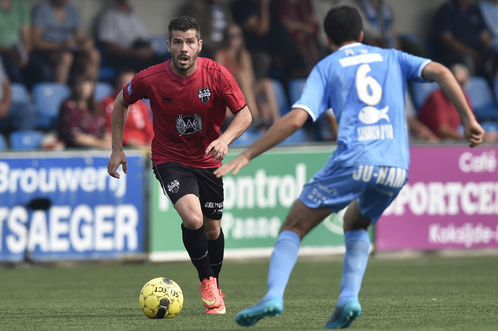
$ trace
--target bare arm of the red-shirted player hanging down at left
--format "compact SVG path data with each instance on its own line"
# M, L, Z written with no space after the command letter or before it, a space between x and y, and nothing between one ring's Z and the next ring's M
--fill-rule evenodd
M118 93L113 107L113 152L109 158L107 172L115 178L119 178L118 167L123 165L124 173L128 173L126 168L126 156L123 151L124 123L128 116L129 104L124 100L123 93Z

